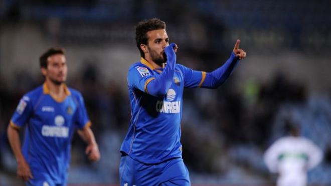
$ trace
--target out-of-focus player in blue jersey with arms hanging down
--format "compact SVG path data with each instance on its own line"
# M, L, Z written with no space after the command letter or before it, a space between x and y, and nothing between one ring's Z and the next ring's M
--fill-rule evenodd
M88 144L90 160L99 160L100 153L81 93L64 83L63 49L46 51L40 67L45 83L21 99L8 127L8 139L18 163L17 174L27 185L66 185L75 129ZM24 126L21 150L19 130Z

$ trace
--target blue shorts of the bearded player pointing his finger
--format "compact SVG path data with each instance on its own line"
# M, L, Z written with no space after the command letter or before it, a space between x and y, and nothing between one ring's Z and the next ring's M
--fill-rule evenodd
M189 170L182 158L145 164L124 155L119 166L119 180L120 186L191 185Z

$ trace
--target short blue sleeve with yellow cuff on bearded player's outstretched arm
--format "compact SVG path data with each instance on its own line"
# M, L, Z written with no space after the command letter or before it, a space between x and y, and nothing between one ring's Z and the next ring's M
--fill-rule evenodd
M192 70L180 64L178 64L178 67L181 69L184 75L184 87L201 87L202 83L205 81L206 72Z

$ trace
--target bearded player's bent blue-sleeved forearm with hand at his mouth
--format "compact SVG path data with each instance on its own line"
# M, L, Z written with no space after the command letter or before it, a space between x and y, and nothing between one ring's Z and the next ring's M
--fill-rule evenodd
M164 67L163 72L159 76L150 79L150 81L146 81L146 93L153 96L163 96L167 94L167 91L173 82L176 65L176 49L177 46L175 43L170 44L164 49L164 53L167 55L167 65Z

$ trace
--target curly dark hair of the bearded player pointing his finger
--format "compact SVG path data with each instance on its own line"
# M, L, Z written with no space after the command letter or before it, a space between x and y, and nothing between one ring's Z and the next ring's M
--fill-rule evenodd
M147 45L148 42L147 32L153 30L165 29L165 27L166 27L165 23L157 18L143 20L138 23L138 25L135 27L135 42L137 44L141 57L145 57L145 54L140 49L140 45L141 44Z

